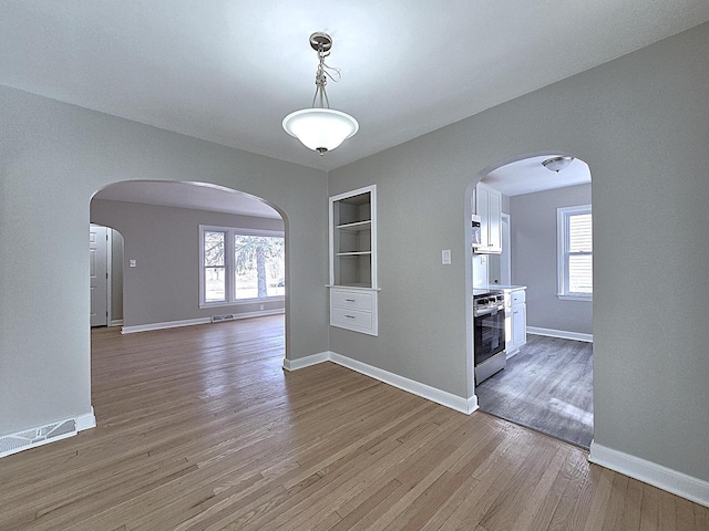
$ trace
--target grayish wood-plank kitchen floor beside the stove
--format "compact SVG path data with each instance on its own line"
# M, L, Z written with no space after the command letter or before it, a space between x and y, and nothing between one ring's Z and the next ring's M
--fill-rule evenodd
M480 408L562 440L594 438L593 344L528 335L504 371L475 388Z

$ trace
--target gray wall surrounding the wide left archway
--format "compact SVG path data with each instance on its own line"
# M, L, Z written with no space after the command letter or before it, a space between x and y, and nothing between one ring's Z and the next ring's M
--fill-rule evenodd
M323 171L9 87L0 123L0 434L91 410L89 205L112 183L214 183L279 209L286 354L328 350Z

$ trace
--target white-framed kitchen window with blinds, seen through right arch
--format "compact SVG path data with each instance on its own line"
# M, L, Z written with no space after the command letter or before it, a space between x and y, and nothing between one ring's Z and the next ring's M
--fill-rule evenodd
M590 301L594 291L590 205L556 210L558 298Z

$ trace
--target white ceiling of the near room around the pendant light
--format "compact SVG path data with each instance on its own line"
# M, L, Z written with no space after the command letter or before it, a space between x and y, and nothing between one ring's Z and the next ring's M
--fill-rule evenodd
M329 170L707 20L707 0L0 0L0 84ZM310 105L314 31L361 126L323 158L280 125Z

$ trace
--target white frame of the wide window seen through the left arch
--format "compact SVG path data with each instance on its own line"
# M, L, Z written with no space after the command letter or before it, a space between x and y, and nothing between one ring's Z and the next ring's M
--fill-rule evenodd
M225 271L225 284L224 284L224 301L205 301L205 253L204 253L204 240L205 232L224 232L224 271ZM242 304L254 304L258 302L278 302L284 301L285 295L275 296L255 296L253 299L235 299L234 293L234 237L235 236L265 236L285 238L286 235L282 230L267 230L267 229L245 229L238 227L217 227L214 225L201 225L199 226L199 308L217 308L217 306L237 306ZM284 257L285 261L285 257Z

